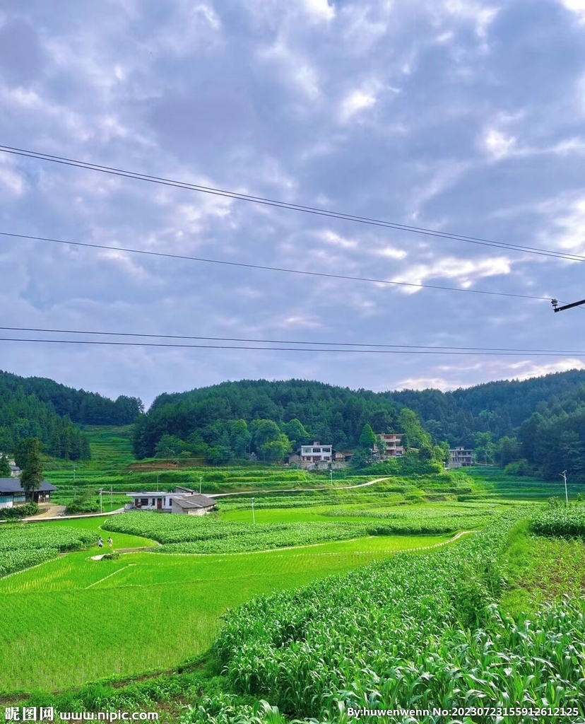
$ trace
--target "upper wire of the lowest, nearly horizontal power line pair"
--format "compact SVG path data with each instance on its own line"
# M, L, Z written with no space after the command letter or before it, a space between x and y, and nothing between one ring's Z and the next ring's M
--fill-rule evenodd
M265 340L249 337L202 337L192 334L153 334L150 332L101 332L90 329L52 329L46 327L0 327L4 332L45 332L48 334L95 334L101 337L147 337L156 340L202 340L206 342L253 342L270 345L321 345L323 347L376 347L403 350L459 350L465 352L513 352L513 353L547 353L555 355L579 355L583 350L547 350L525 347L458 347L456 345L388 345L380 342L312 342L309 340ZM31 340L37 341L37 340ZM43 340L38 340L43 341ZM62 340L67 341L67 340ZM280 348L275 348L280 349Z

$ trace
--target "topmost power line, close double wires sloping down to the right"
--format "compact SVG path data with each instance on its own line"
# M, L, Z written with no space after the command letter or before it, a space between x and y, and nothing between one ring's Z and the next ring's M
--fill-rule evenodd
M556 258L568 259L570 261L585 261L585 256L578 254L564 253L553 249L544 249L535 246L526 246L521 244L511 244L507 242L495 241L492 239L484 239L482 237L466 236L463 234L453 234L450 232L442 232L435 229L427 229L425 227L415 227L409 224L398 224L397 222L385 221L384 219L375 219L370 216L358 216L356 214L345 214L341 211L332 211L330 209L321 209L317 206L304 206L297 203L289 203L288 201L278 201L264 196L255 196L237 191L230 191L213 186L203 186L200 184L192 184L189 182L179 181L171 178L153 176L150 174L142 174L136 171L128 171L111 166L103 166L101 164L93 164L89 161L80 161L79 159L69 159L66 156L55 156L51 153L41 153L40 151L32 151L27 148L14 148L13 146L0 146L2 153L9 153L14 156L24 156L29 159L38 161L49 161L54 164L64 166L72 166L90 171L98 171L101 173L111 174L131 178L134 180L147 181L150 183L160 184L164 186L172 186L174 188L184 188L196 191L197 193L206 193L223 198L231 198L237 201L247 201L249 203L257 203L262 206L274 206L278 209L288 209L289 211L299 211L304 214L314 214L316 216L326 216L333 219L341 219L343 221L355 222L359 224L368 224L375 227L383 227L387 229L395 229L398 231L409 232L424 236L432 236L443 239L451 239L461 241L462 243L477 244L482 246L491 246L508 251L520 251L522 253L537 254L539 256L554 256Z

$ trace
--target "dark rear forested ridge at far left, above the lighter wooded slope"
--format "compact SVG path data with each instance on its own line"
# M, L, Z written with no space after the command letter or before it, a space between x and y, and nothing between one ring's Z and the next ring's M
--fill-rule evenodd
M0 395L9 397L19 391L51 403L58 415L67 415L84 425L127 425L142 412L142 402L137 397L120 395L110 400L97 392L74 390L45 377L20 377L0 370Z

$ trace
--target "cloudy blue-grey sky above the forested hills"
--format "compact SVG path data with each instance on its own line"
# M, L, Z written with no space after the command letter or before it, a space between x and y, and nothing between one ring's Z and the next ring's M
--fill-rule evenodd
M585 0L4 0L0 145L584 255ZM227 379L291 377L448 390L585 366L574 354L585 308L555 314L547 300L585 297L582 261L7 153L0 232L546 298L0 236L3 327L563 352L0 341L0 369L110 397L148 405Z

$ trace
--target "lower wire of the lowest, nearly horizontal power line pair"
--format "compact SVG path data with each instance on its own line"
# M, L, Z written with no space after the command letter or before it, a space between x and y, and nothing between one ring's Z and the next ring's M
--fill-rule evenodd
M179 348L179 349L212 349L212 350L264 350L268 352L328 352L345 354L383 354L383 355L488 355L518 357L530 354L534 357L558 357L565 355L564 352L482 352L473 350L443 350L431 349L349 349L338 347L260 347L258 345L210 345L210 344L179 344L178 342L113 342L111 340L54 340L54 339L30 339L27 337L0 337L0 342L33 342L35 344L55 345L108 345L112 347L155 347L155 348ZM585 350L571 352L575 357L585 357Z

